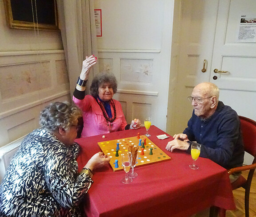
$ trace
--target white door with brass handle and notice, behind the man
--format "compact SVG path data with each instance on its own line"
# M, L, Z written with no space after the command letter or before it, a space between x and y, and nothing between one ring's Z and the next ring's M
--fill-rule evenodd
M210 81L220 88L224 104L256 120L255 0L220 1Z

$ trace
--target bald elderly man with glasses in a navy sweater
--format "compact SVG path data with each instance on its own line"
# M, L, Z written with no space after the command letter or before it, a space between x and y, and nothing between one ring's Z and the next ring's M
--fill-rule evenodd
M220 166L230 169L242 166L244 145L239 117L230 106L219 101L219 88L204 82L196 85L188 99L194 107L188 127L183 133L173 136L166 149L180 149L190 153L191 142L201 144L200 157L208 158ZM236 181L240 174L230 176Z

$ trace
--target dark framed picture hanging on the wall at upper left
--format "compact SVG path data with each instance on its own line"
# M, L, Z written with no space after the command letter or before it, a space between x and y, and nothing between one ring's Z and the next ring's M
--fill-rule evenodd
M4 7L10 28L59 30L56 0L4 0Z

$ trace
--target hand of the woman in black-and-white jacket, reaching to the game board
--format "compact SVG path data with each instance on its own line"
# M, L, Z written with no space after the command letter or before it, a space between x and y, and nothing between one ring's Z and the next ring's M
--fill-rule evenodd
M103 152L98 152L88 160L87 164L84 167L90 168L91 170L104 167L108 165L110 158L108 155L104 155Z

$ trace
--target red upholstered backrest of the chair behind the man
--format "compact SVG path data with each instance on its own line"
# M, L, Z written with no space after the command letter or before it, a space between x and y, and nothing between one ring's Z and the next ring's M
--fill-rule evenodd
M256 163L256 121L243 116L239 116L239 119L244 140L244 151L254 156L253 163Z

